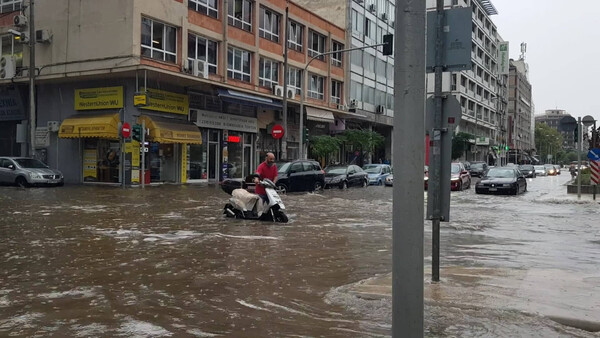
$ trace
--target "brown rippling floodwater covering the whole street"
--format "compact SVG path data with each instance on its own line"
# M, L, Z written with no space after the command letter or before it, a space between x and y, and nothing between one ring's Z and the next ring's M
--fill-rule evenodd
M452 193L427 336L593 336L600 205L568 175L520 196ZM288 194L285 225L224 218L218 186L0 187L0 336L379 337L389 297L352 288L391 271L392 189Z

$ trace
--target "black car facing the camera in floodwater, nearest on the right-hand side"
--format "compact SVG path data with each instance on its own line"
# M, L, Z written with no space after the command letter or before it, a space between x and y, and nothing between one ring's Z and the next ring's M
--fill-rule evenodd
M517 195L525 191L527 180L517 167L491 168L475 185L477 194Z

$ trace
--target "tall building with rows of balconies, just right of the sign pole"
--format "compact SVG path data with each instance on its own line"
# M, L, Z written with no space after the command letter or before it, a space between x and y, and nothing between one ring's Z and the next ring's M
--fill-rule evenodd
M471 69L447 72L443 76L442 90L452 93L462 107L462 120L456 132L474 135L470 151L464 160L487 161L495 164L504 154L498 144L502 139L505 102L504 79L498 74L498 46L502 41L491 20L498 14L488 0L446 0L446 9L470 7ZM427 1L427 10L436 9L436 1ZM434 74L427 76L427 93L434 93Z

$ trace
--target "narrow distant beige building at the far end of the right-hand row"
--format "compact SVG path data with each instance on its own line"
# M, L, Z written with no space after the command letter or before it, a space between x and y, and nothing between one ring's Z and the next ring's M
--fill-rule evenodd
M510 60L508 94L508 140L511 159L531 161L535 150L532 133L532 97L528 79L529 66L524 59Z

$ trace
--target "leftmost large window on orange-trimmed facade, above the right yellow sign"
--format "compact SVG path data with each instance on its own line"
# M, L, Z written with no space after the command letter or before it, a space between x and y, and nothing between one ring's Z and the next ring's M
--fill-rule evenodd
M142 56L177 62L177 28L142 18Z

